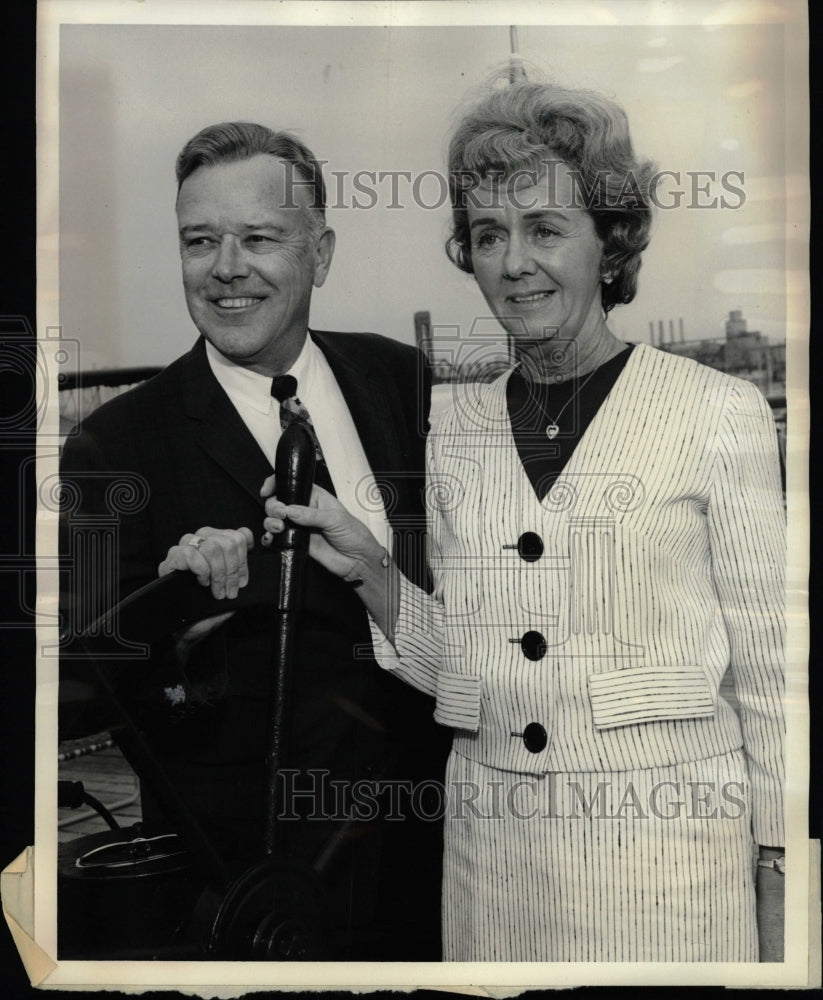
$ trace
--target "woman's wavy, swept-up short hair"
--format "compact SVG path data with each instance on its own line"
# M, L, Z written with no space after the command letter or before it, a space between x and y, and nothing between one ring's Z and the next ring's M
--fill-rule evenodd
M613 279L601 285L608 312L631 302L637 291L640 254L649 244L654 164L635 156L622 108L594 91L542 82L483 89L449 144L452 232L446 252L472 274L469 192L486 178L537 175L557 158L571 169L575 204L589 213L603 241L603 274Z

